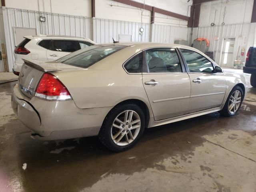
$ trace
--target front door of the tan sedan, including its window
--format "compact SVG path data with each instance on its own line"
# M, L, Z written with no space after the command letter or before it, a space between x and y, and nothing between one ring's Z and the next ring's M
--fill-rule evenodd
M219 107L226 93L222 72L214 73L212 63L197 52L180 49L188 65L191 94L188 112Z

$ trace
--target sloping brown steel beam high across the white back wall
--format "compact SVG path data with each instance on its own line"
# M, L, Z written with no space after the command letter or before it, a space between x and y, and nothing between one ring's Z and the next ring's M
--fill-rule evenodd
M160 14L163 14L163 15L167 15L167 16L171 16L171 17L175 17L175 18L178 18L178 19L182 19L182 20L188 20L188 17L187 16L184 16L184 15L181 15L181 14L178 14L178 13L174 13L174 12L170 12L170 11L167 11L167 10L163 10L163 9L160 9L160 8L156 8L156 7L153 7L153 6L149 6L149 5L144 5L143 3L139 3L139 2L135 2L135 1L132 1L132 0L113 0L115 2L119 2L119 3L122 3L122 4L126 4L126 5L130 5L130 6L133 6L133 7L137 7L137 8L140 8L140 9L145 9L145 10L148 10L148 11L151 11L154 10L154 13L160 13ZM151 14L152 15L154 15ZM151 18L151 21L152 21L152 18Z

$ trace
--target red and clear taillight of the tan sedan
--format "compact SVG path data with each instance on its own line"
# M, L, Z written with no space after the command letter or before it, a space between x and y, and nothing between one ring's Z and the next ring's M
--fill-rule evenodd
M46 100L71 99L68 89L56 76L44 73L36 88L35 96Z

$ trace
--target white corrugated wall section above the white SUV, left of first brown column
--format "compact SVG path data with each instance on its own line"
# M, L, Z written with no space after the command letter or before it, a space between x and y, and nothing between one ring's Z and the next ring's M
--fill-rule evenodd
M46 21L40 22L40 16L44 16ZM36 28L38 34L92 38L91 18L88 17L42 13L12 8L3 8L3 17L9 70L12 70L14 64L14 27Z

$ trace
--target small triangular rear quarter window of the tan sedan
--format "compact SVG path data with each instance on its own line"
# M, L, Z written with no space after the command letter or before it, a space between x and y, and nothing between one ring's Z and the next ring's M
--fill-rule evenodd
M124 68L128 73L141 73L142 72L142 53L137 54L131 58Z

